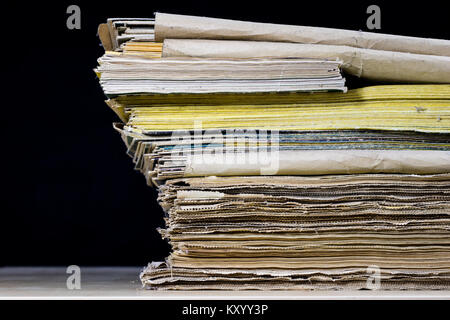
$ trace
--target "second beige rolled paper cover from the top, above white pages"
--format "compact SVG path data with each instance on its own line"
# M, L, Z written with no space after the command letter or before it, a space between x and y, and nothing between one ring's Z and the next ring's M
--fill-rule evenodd
M340 59L358 77L392 82L450 83L450 57L349 46L263 41L166 39L163 57Z

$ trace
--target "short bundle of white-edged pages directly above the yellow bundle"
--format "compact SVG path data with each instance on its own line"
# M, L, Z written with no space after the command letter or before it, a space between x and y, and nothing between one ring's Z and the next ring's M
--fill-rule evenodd
M106 53L98 61L96 72L108 96L346 91L341 62L325 59L145 59Z

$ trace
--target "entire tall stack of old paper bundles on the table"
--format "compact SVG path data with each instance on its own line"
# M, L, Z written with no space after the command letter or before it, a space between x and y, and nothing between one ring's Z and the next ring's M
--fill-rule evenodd
M448 41L164 14L99 34L166 212L147 288L450 288ZM347 92L341 69L428 84Z

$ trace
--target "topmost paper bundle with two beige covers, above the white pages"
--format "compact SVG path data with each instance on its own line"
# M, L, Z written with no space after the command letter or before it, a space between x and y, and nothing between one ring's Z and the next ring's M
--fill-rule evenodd
M145 58L161 51L165 57L338 58L345 72L366 79L450 83L448 40L164 13L156 21L108 19L98 32L105 50Z

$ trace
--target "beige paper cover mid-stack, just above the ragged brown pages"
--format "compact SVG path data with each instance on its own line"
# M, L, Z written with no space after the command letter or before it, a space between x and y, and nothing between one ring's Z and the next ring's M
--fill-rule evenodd
M267 161L255 154L243 161L205 161L188 158L185 177L252 175L323 175L357 173L436 174L450 172L450 152L429 150L280 150Z

